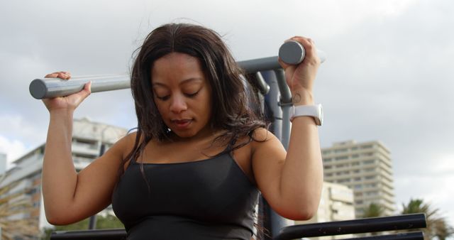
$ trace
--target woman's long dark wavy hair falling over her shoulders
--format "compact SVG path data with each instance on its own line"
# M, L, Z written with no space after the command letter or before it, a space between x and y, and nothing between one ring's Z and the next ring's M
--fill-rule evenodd
M248 97L251 96L246 92L245 80L241 77L243 72L215 31L187 23L170 23L153 30L138 50L131 72L131 89L138 119L137 134L133 150L123 159L120 175L124 173L124 164L128 160L137 160L151 139L165 141L170 136L157 111L151 85L153 63L169 53L185 53L201 62L212 89L209 124L212 129L225 130L215 141L228 142L226 151L253 141L253 131L267 127L262 116L248 107ZM249 136L249 141L236 145L238 138L244 136Z

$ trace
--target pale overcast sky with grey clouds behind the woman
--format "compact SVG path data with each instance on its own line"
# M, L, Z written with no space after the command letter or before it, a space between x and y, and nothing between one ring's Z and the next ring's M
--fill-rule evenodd
M44 143L48 112L28 92L57 70L128 72L145 36L168 22L224 36L237 60L277 55L309 36L327 55L316 80L321 144L381 141L397 207L423 198L454 224L454 1L0 1L0 152ZM135 126L129 90L92 94L75 113Z

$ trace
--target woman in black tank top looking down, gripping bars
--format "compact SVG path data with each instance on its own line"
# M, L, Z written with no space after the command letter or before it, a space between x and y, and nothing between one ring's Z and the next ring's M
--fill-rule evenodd
M307 52L297 66L281 63L294 105L314 104L320 64L314 43L291 39ZM248 109L240 74L214 31L189 24L156 28L131 74L138 131L78 174L72 114L90 84L43 100L50 111L43 163L48 221L70 224L112 204L128 239L250 239L259 191L283 217L309 219L322 185L316 122L293 119L286 153Z

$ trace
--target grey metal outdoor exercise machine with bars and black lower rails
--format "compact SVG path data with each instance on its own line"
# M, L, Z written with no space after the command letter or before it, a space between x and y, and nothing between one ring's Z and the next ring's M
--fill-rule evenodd
M326 58L323 52L318 51L323 62ZM279 58L287 64L297 64L304 60L305 50L297 42L289 41L279 48ZM285 148L289 143L290 108L292 107L292 94L285 81L284 70L279 65L278 57L258 58L237 62L245 72L245 78L252 86L249 90L258 94L262 100L259 106L271 116L273 133L282 142ZM96 77L79 77L70 81L58 78L45 78L33 80L30 84L30 93L35 99L49 97L62 97L79 92L84 84L92 81L92 92L104 92L116 89L127 89L130 80L127 75L104 75ZM342 234L365 234L385 231L387 235L361 236L355 239L423 239L421 231L406 232L408 229L421 229L426 227L424 214L406 214L392 217L377 217L355 219L339 222L326 222L316 224L301 224L288 226L287 219L274 212L266 200L260 198L259 215L262 219L259 225L267 229L268 234L261 234L259 239L300 239L313 236L333 236ZM394 231L405 232L395 233ZM82 231L55 231L50 239L126 239L124 229L92 229Z

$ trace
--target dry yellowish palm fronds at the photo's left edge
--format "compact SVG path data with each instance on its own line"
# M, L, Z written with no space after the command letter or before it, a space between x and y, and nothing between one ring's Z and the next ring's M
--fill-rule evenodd
M26 190L11 192L18 185L18 182L9 185L1 183L6 178L6 175L0 175L0 229L1 239L33 239L39 233L37 224L33 219L15 218L18 214L30 212L31 203L21 199L21 196L26 193Z

